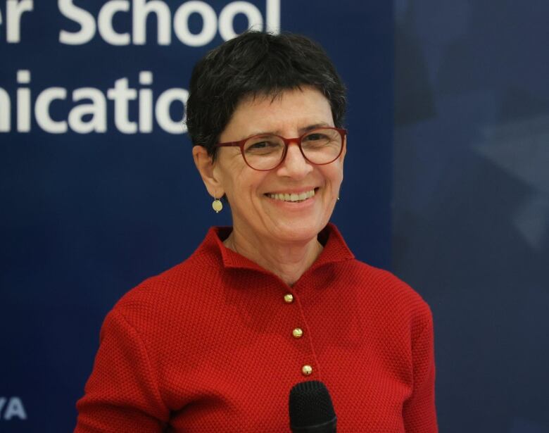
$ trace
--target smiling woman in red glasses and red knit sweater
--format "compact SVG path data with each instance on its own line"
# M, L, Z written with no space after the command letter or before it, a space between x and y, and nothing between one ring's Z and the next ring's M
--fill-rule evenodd
M437 431L429 307L329 224L345 106L305 37L246 32L196 65L194 161L233 227L108 314L77 432L284 432L308 379L340 432Z

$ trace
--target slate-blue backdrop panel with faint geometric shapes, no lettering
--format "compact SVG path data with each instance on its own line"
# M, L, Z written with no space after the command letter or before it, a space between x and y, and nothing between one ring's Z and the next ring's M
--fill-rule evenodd
M549 432L549 3L396 2L393 270L441 432Z

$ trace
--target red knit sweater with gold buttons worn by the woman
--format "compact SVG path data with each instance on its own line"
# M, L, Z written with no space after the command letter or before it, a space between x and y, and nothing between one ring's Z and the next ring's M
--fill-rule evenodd
M333 225L293 287L225 248L229 232L211 229L108 313L75 432L289 432L289 391L306 379L326 384L338 432L437 432L431 312L415 291L355 260Z

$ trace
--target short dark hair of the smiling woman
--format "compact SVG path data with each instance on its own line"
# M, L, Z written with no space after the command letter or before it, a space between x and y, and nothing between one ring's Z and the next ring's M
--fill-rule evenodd
M186 120L191 141L214 155L240 101L274 98L306 85L326 96L334 125L343 127L345 85L319 44L301 34L244 32L209 51L194 67Z

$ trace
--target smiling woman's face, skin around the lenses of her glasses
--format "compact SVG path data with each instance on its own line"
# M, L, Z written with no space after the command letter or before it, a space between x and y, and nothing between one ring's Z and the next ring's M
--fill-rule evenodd
M313 87L286 90L281 97L245 99L236 107L220 136L233 142L255 134L300 137L315 126L334 126L328 100ZM345 146L345 144L343 144ZM341 156L327 165L305 161L296 143L284 162L270 171L248 167L238 147L218 149L213 175L227 194L235 230L248 239L275 242L310 241L327 224L343 180ZM273 198L273 194L315 191L304 201Z

